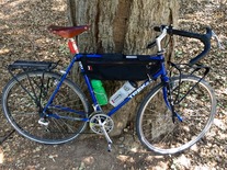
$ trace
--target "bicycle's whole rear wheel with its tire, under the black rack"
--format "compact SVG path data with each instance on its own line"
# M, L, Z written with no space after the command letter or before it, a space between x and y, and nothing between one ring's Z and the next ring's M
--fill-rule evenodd
M64 104L66 107L79 110L84 114L77 115L54 107L48 109L48 113L68 118L48 116L47 126L38 123L42 107L47 103L60 77L55 72L27 71L16 75L4 87L2 92L3 113L19 134L37 143L55 145L70 141L83 132L87 122L76 121L76 118L88 117L88 100L79 87L69 79L64 80L53 103ZM34 99L38 99L39 104Z

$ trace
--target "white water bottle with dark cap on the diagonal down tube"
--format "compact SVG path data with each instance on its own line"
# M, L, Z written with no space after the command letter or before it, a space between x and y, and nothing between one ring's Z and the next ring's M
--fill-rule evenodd
M126 81L123 87L117 90L111 98L110 103L113 106L118 105L124 101L135 89L137 88L137 83L135 81Z

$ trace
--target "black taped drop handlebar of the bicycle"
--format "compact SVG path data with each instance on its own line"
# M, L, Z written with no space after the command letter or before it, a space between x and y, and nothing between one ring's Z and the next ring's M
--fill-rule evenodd
M166 26L162 25L161 27L155 26L154 30L157 32L161 32ZM192 37L200 39L204 44L204 49L201 54L198 54L196 57L192 58L189 63L189 65L194 65L198 60L201 60L211 49L211 37L212 37L212 29L206 27L206 34L198 34L198 33L192 33L192 32L186 32L186 31L181 31L181 30L174 30L171 26L167 29L167 33L170 35L180 35L184 37Z

